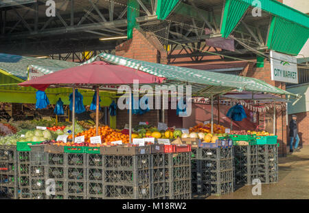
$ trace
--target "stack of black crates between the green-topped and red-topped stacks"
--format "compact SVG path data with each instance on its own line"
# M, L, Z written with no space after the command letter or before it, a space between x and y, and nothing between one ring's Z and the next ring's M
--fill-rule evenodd
M104 199L151 199L150 146L101 148Z

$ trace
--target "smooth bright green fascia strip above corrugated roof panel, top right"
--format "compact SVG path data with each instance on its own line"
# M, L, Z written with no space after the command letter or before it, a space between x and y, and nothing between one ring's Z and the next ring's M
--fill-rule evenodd
M252 5L255 0L233 0L233 1L243 1L249 5ZM284 5L276 0L259 0L261 3L262 10L270 12L276 16L281 16L282 18L298 23L309 28L309 16L303 12L299 12L294 8L290 8L288 5Z

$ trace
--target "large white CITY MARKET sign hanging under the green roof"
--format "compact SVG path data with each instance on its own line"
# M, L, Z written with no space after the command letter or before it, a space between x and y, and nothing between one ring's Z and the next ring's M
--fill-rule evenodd
M297 58L271 50L271 80L298 84Z

